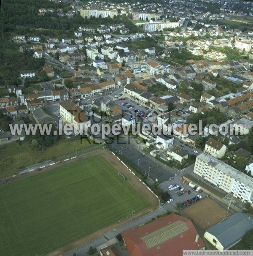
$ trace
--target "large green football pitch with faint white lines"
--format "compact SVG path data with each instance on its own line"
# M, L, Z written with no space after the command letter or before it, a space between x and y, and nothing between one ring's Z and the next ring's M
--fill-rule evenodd
M0 255L41 255L148 202L97 155L0 186Z

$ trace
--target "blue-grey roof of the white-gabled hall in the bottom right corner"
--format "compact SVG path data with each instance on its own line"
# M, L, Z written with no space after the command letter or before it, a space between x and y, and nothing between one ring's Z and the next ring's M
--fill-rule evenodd
M237 212L220 223L207 229L223 245L224 249L241 240L244 234L253 229L253 219L247 214Z

